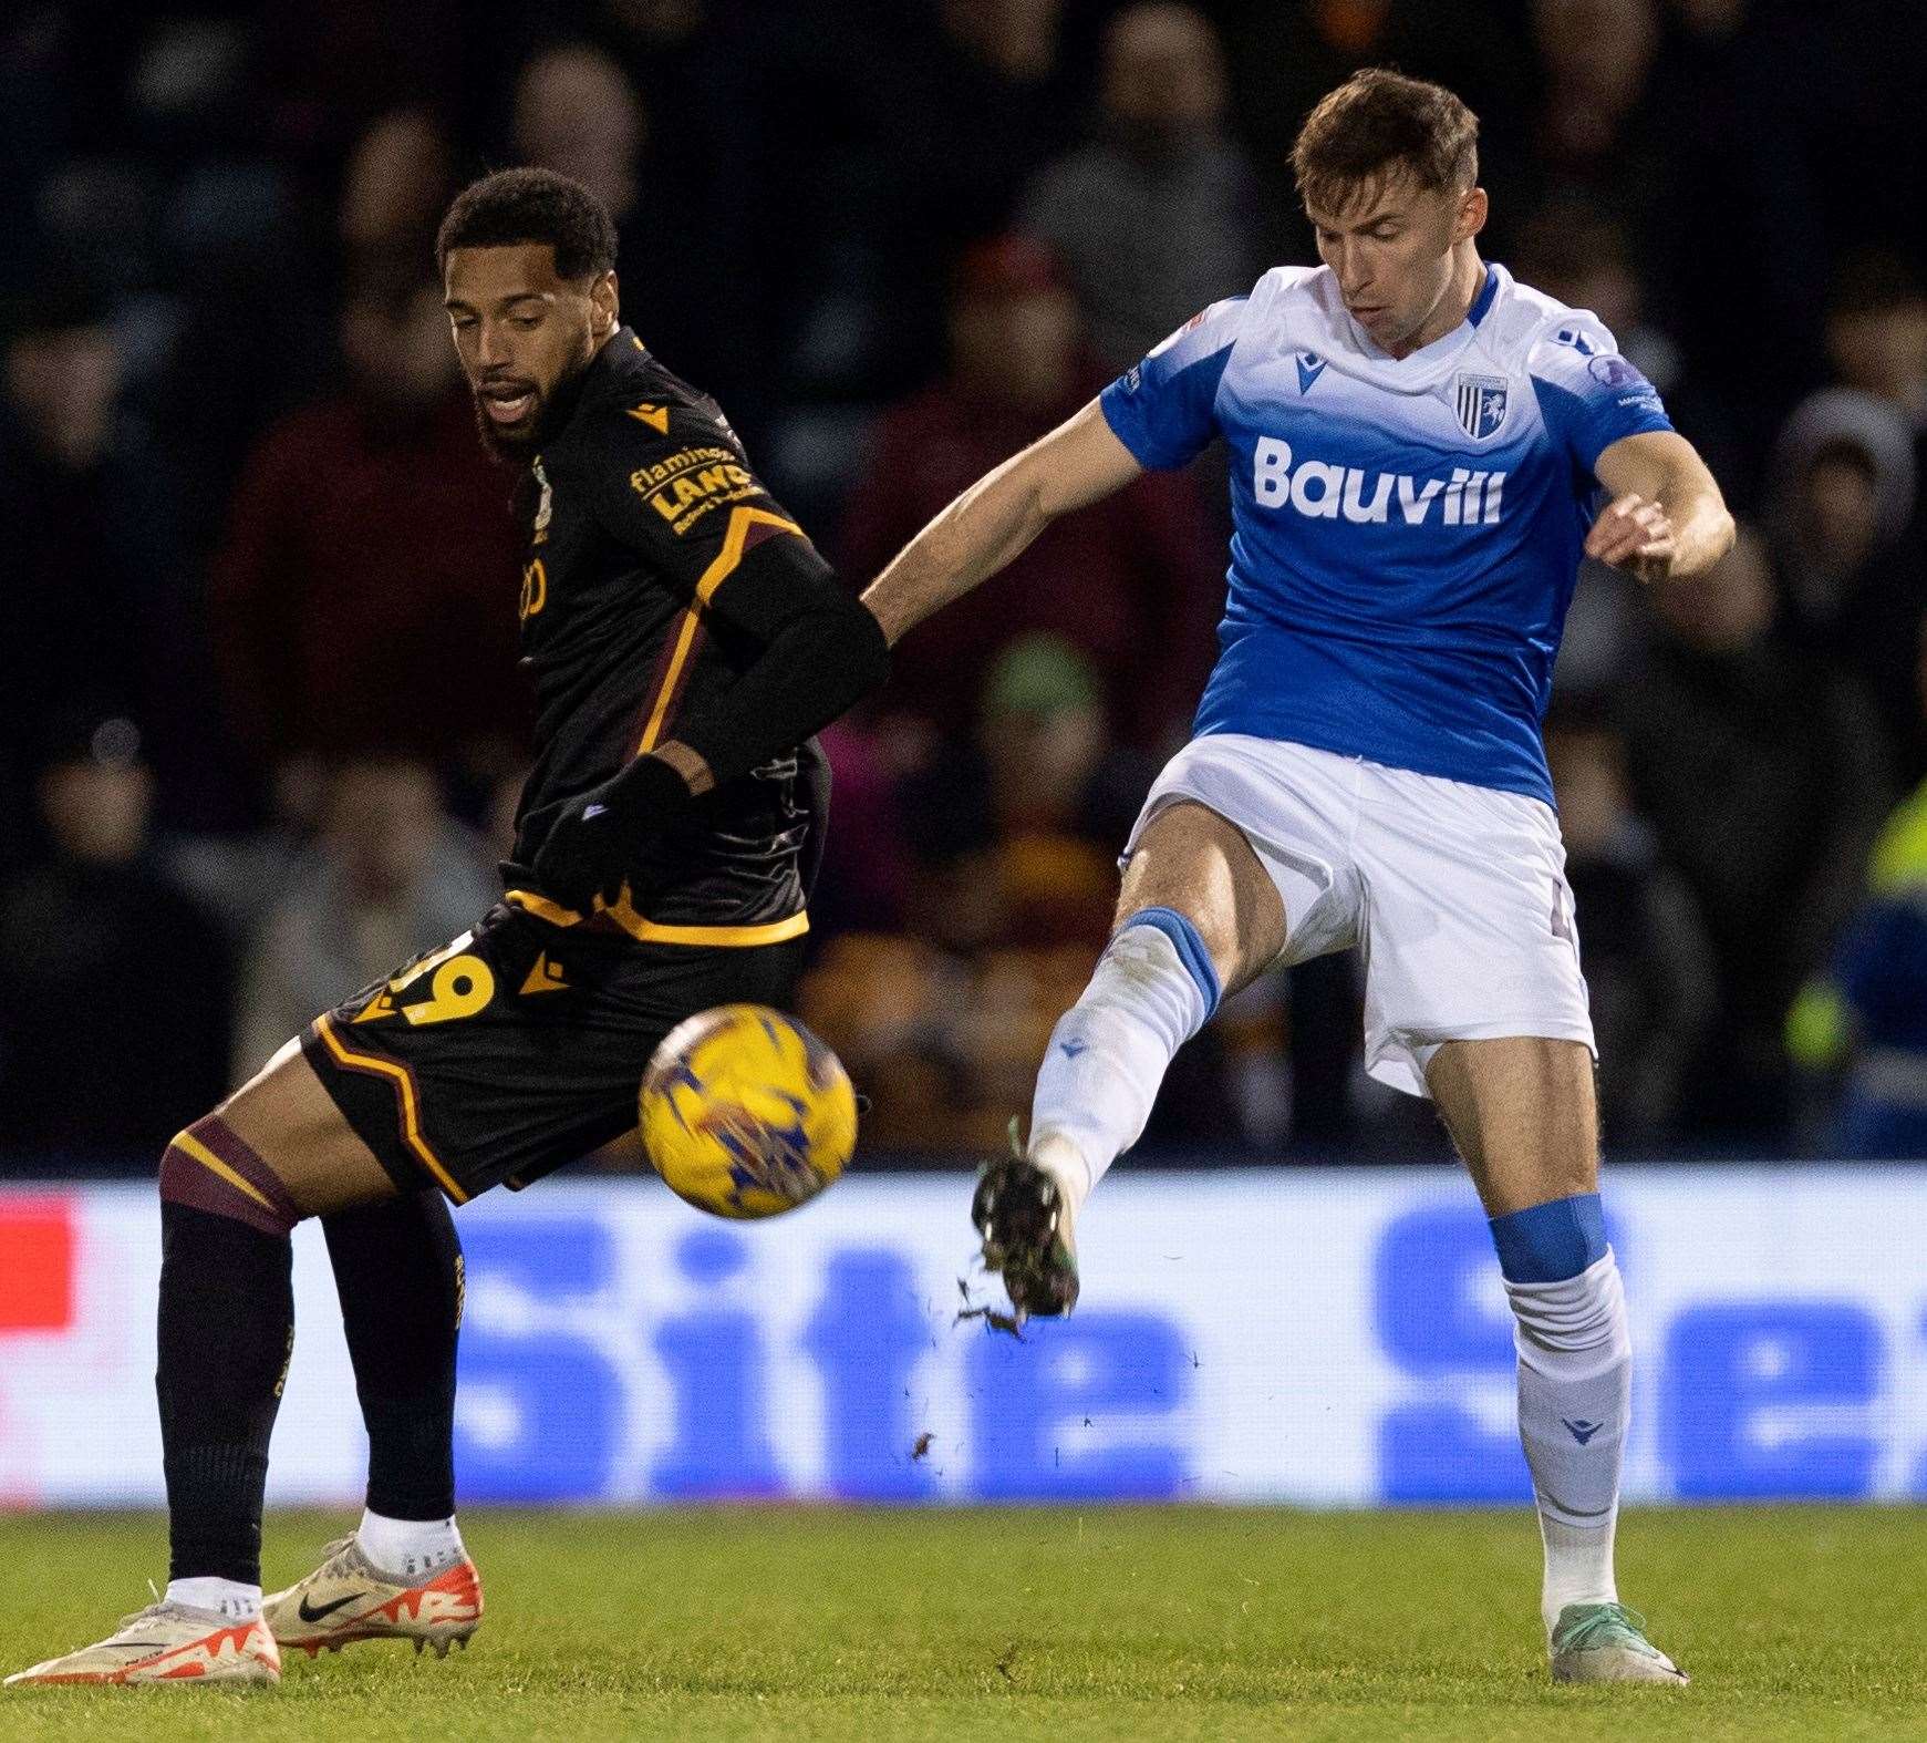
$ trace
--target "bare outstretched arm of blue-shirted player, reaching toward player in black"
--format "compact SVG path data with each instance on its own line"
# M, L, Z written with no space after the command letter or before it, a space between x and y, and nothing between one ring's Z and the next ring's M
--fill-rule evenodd
M950 503L871 582L863 603L894 646L996 575L1058 515L1123 490L1143 470L1093 399Z

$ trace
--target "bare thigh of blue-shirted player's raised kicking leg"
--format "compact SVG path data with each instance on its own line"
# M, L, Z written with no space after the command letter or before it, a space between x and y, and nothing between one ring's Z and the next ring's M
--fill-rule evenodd
M1204 939L1226 995L1254 979L1285 947L1285 904L1243 831L1208 806L1164 806L1123 868L1120 925L1145 908L1174 908Z

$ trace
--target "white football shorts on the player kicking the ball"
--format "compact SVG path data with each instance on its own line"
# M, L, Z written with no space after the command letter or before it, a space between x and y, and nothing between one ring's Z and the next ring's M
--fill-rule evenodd
M1443 1041L1594 1047L1565 845L1542 800L1214 733L1166 764L1120 864L1179 800L1237 825L1272 875L1281 964L1360 947L1364 1068L1382 1084L1426 1095Z

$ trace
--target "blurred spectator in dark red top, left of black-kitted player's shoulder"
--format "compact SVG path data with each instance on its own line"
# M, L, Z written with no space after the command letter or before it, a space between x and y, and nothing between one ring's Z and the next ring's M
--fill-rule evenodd
M251 455L214 565L233 721L262 771L370 746L474 758L526 735L509 478L436 285L351 289L341 351L345 389Z

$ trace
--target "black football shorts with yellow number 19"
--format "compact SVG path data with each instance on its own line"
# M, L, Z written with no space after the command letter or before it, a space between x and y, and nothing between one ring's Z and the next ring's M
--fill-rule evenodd
M802 952L794 935L638 943L503 902L316 1018L301 1049L399 1188L461 1205L634 1130L657 1041L713 1005L786 1005Z

